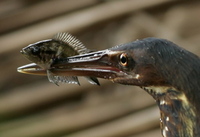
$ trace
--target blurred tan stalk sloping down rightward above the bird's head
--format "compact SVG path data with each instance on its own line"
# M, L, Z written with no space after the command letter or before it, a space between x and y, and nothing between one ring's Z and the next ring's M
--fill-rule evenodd
M192 42L181 38L179 35L179 31L175 30L174 28L170 28L169 26L158 21L155 17L149 15L148 13L138 13L134 18L134 22L135 25L142 27L147 32L155 35L155 37L165 38L170 41L173 41L179 46L184 47L185 49L196 54L199 50L199 48ZM148 24L146 24L145 22L148 22Z

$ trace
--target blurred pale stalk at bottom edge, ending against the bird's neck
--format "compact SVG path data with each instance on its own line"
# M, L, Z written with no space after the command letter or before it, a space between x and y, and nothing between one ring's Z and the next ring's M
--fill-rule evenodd
M64 137L124 137L158 127L158 117L157 107L153 107Z

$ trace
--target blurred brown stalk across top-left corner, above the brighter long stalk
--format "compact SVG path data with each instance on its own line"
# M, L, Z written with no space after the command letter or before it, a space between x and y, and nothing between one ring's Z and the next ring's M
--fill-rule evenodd
M50 0L21 8L7 16L0 16L0 33L45 20L63 13L98 3L96 0ZM52 10L52 7L54 9Z

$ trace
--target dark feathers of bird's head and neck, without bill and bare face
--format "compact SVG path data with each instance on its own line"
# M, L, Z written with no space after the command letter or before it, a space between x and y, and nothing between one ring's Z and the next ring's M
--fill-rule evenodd
M120 83L141 86L154 97L161 112L163 136L200 135L198 56L170 41L157 38L132 42L113 50L131 54L135 62L133 71L142 78L138 82ZM162 92L156 91L157 88Z

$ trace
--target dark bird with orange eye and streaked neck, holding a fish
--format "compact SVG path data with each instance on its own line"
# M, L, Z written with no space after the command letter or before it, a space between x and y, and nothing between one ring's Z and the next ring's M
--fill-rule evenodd
M30 68L20 69L29 74L43 71L36 66ZM200 58L169 40L144 38L56 59L51 72L141 87L159 107L163 137L200 136Z

